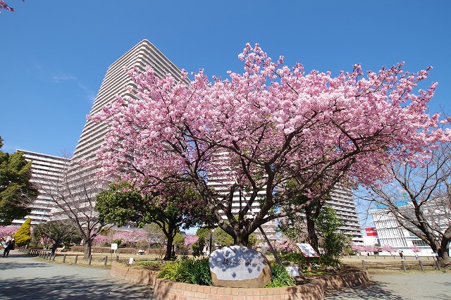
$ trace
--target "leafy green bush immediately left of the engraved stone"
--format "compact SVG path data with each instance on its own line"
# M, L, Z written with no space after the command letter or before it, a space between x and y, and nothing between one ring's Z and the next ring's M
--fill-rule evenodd
M166 263L161 268L159 278L193 285L213 285L208 258L201 260L185 259Z

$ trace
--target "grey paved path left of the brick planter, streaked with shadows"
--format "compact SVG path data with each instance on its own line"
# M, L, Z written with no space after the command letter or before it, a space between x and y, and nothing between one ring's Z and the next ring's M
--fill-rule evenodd
M0 299L151 299L152 290L114 279L106 268L0 256Z

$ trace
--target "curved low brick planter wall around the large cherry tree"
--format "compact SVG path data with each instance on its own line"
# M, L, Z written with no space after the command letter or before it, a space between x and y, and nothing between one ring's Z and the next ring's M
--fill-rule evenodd
M156 299L178 300L283 300L283 299L324 299L324 288L340 289L356 287L369 282L368 273L356 272L344 275L317 276L307 285L296 287L274 287L270 289L244 289L237 287L208 287L190 285L156 278L158 271L127 268L120 263L111 264L111 275L121 280L144 285L152 285Z

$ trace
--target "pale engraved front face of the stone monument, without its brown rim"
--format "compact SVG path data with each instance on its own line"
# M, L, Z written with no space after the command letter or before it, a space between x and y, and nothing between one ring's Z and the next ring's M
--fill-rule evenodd
M260 252L245 246L223 246L211 253L209 266L218 280L251 280L268 268L268 261Z

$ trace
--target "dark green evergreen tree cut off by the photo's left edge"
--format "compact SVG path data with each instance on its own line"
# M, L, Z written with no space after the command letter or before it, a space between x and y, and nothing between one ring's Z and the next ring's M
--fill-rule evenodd
M0 137L0 148L3 139ZM22 152L7 154L0 151L0 225L10 225L30 213L30 203L37 189L30 183L31 162Z

